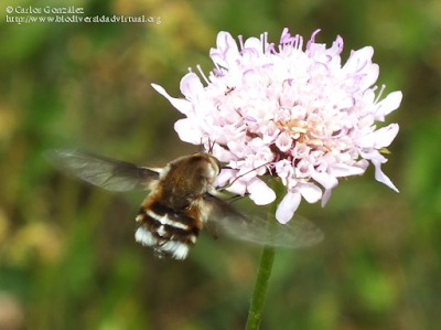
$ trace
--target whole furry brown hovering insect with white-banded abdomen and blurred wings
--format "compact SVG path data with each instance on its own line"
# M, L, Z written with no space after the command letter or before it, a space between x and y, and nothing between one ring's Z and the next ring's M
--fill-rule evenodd
M153 248L158 257L185 259L204 226L241 241L262 245L301 247L323 239L323 233L303 217L280 225L269 235L266 221L248 217L219 196L215 179L220 162L197 152L170 161L163 169L80 151L55 149L45 158L60 170L111 191L149 190L136 222L135 238Z

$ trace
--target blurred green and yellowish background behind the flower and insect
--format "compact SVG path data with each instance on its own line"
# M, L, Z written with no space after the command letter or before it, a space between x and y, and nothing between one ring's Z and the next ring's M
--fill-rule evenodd
M8 6L161 23L7 23ZM72 180L41 153L79 147L163 166L196 151L150 84L179 96L187 67L212 68L218 31L268 31L277 43L284 26L305 39L321 28L329 45L341 34L343 62L374 46L384 95L404 93L384 166L400 193L370 167L341 180L324 209L303 203L326 238L278 252L261 328L439 329L440 1L11 0L0 10L0 329L243 329L259 247L203 233L187 260L158 260L133 239L143 192Z

